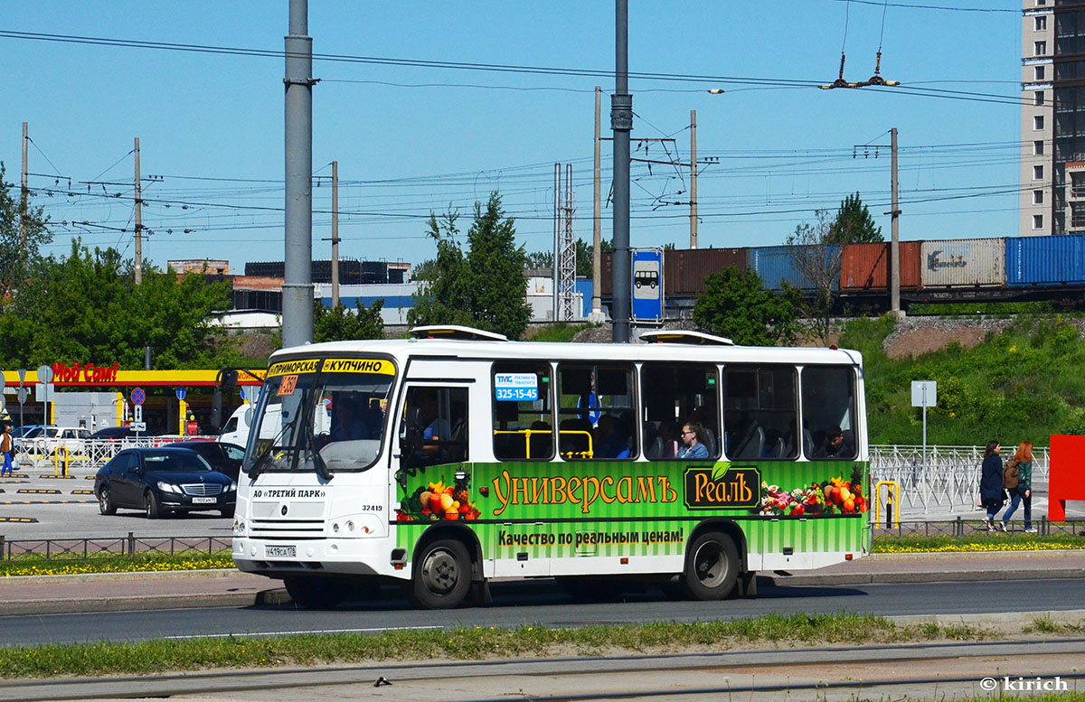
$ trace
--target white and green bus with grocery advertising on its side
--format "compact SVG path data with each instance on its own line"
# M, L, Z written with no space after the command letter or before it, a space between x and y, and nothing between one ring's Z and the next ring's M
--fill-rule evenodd
M393 582L456 607L510 576L754 596L757 571L869 552L855 351L412 336L271 358L233 560L303 607Z

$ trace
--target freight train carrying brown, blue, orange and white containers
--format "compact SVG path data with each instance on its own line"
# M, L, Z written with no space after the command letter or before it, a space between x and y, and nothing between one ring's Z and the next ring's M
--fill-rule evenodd
M839 260L833 276L840 304L889 309L890 244L827 247ZM936 239L899 243L901 303L1050 300L1085 306L1085 234ZM813 281L790 246L673 249L664 251L663 286L668 308L692 307L705 277L725 268L756 271L768 289L787 283L809 292ZM602 297L611 297L610 253L602 259Z

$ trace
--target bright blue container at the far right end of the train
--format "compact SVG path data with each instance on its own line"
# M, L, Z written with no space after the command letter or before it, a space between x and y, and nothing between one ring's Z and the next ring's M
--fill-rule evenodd
M1085 284L1085 235L1007 237L1006 284Z

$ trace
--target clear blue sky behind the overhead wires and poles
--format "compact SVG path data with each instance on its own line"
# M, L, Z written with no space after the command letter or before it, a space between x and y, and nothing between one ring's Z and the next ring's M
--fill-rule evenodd
M554 162L573 164L576 233L590 240L593 89L603 88L608 136L613 13L612 2L597 1L311 0L316 53L609 74L315 62L314 258L330 255L322 239L333 159L343 258L431 258L429 213L452 207L469 216L492 190L525 248L550 249ZM648 158L688 162L690 109L699 160L718 158L700 168L702 248L780 244L814 210L835 210L855 191L888 236L891 127L902 148L902 238L1017 234L1020 3L634 0L629 15L631 72L722 77L630 80L633 136L676 140L649 144ZM38 0L8 3L0 30L273 52L283 47L288 2ZM908 90L780 84L831 82L842 43L844 77L866 79L879 41L882 76ZM78 236L133 255L130 152L139 136L145 258L227 259L237 272L246 261L282 260L281 57L4 36L0 69L9 76L0 160L17 183L29 122L30 186L54 222L49 252L65 253ZM709 94L713 87L726 92ZM602 161L605 194L607 142ZM688 246L688 207L667 204L688 202L688 170L655 164L649 172L638 162L633 178L631 245ZM607 208L604 237L610 230Z

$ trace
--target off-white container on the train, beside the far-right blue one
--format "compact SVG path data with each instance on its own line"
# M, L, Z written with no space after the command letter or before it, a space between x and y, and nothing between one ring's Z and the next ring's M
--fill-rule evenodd
M988 287L1006 285L1006 239L973 238L923 242L920 248L922 287Z

